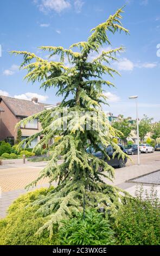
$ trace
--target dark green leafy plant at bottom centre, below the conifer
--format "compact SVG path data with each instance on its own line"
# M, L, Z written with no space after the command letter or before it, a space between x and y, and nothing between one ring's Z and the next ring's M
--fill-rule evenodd
M76 214L62 221L59 229L61 245L113 245L114 236L108 220L96 210Z

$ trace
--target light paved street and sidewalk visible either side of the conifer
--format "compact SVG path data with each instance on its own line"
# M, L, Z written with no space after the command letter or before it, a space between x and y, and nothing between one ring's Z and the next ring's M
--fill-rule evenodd
M2 198L0 199L0 218L5 217L8 206L17 197L27 192L24 190L24 186L29 183L27 181L33 181L39 174L40 170L43 169L43 167L43 164L39 162L36 163L36 166L29 166L28 164L28 166L25 168L23 165L23 168L7 167L0 169L0 185L2 186ZM135 184L135 182L133 183L131 179L155 172L156 170L160 170L159 161L148 165L143 164L142 166L130 166L116 169L113 183L105 178L104 181L107 184L118 186L134 196L137 184ZM151 184L144 184L144 189L150 191L151 186ZM30 188L29 191L35 190L39 187L48 187L47 179L41 180L37 187ZM160 184L155 185L155 188L158 192L158 197L160 198Z

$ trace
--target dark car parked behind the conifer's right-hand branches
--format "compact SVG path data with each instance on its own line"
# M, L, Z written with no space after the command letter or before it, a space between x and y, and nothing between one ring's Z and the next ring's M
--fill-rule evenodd
M123 147L123 145L119 145L120 149L126 153L125 148ZM87 148L87 152L91 153L92 155L99 157L99 159L104 159L105 162L107 162L108 164L110 164L110 166L112 167L119 167L119 168L123 168L125 167L125 164L127 162L127 157L125 157L125 159L123 160L121 157L118 159L118 154L114 157L113 159L113 153L114 153L114 149L111 147L111 145L109 145L106 148L106 153L107 155L110 157L110 160L108 160L107 158L104 157L104 154L101 151L96 151L93 148Z

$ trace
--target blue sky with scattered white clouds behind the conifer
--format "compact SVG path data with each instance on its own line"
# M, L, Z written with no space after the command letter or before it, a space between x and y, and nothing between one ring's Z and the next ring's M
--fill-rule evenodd
M10 56L8 51L26 50L42 56L38 46L69 47L74 42L85 41L93 27L124 4L123 25L130 35L109 35L112 47L122 45L126 52L119 56L119 63L113 63L121 77L116 76L112 81L117 88L105 88L110 107L104 109L135 118L135 102L128 97L138 95L140 118L147 114L160 120L159 0L2 0L0 95L30 99L38 94L41 102L61 101L61 97L55 96L56 89L44 93L38 83L24 81L25 72L18 70L22 58Z

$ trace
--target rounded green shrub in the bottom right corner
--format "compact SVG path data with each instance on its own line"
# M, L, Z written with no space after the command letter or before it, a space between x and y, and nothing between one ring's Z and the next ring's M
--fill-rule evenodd
M142 188L137 198L127 202L118 211L113 230L120 245L160 245L160 208L156 192L142 197Z

